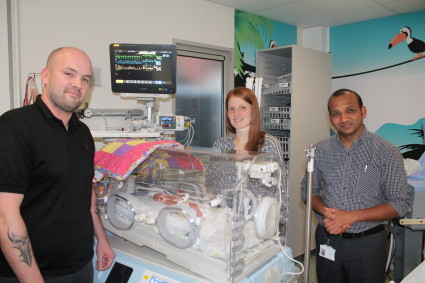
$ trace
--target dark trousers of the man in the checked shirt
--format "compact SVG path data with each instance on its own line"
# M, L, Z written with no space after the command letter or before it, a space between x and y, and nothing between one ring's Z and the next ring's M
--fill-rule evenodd
M328 242L329 240L329 242ZM319 255L320 245L335 249L335 261ZM387 261L387 233L345 239L316 229L316 273L318 283L383 283Z

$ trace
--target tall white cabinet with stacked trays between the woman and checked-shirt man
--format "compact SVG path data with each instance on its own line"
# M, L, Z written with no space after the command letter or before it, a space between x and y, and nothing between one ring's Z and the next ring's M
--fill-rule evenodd
M307 164L305 150L330 132L331 55L296 45L260 50L256 75L263 78L263 129L279 138L288 159L287 245L298 256L305 249L306 206L300 186Z

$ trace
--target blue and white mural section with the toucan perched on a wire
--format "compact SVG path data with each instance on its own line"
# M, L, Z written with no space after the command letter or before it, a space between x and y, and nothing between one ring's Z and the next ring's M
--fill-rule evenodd
M412 159L425 150L424 18L425 11L330 29L332 89L357 91L368 129Z

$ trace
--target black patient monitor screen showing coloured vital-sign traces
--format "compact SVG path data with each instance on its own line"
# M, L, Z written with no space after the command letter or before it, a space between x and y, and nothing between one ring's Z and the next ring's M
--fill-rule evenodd
M176 93L175 45L112 43L109 54L113 92Z

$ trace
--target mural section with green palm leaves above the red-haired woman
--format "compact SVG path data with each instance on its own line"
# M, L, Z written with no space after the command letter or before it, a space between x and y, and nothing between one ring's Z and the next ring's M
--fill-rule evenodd
M235 86L255 77L256 52L297 43L297 28L235 10Z

